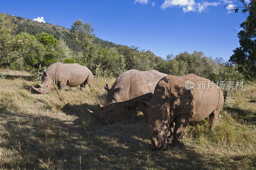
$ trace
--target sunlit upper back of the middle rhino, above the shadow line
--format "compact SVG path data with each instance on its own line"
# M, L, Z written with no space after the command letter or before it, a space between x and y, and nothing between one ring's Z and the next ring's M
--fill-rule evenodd
M147 93L153 94L157 82L166 75L167 74L160 73L156 70L125 71L116 79L114 85L111 87L108 100L111 100L115 89L119 88L121 85L124 89L120 98L122 101L132 100Z

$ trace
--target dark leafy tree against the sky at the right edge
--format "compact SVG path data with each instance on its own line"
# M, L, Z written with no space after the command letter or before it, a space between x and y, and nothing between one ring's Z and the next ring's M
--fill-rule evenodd
M252 0L246 4L240 0L244 7L236 7L235 12L242 8L247 13L247 19L240 25L243 28L238 34L240 47L233 50L234 54L229 61L237 64L237 69L246 78L256 79L256 2Z

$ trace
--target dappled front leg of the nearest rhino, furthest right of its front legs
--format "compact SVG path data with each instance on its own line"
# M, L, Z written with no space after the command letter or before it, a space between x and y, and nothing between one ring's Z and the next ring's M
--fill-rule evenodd
M175 118L174 120L175 126L173 130L173 140L172 140L171 146L178 147L181 149L185 148L185 145L182 142L182 137L183 137L184 130L188 125L189 116L190 114L184 114Z

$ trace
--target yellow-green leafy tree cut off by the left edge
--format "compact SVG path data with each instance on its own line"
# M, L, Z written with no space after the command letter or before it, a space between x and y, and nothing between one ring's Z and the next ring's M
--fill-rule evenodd
M13 43L16 25L6 14L0 12L0 66L10 66L18 57L15 55Z

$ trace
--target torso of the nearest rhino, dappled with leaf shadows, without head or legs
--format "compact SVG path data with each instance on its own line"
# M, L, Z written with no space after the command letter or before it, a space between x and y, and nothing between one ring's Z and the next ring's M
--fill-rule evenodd
M190 90L186 89L187 80L194 83L194 87ZM205 86L201 86L204 83ZM217 107L220 102L220 89L212 81L194 74L166 76L156 85L153 99L161 103L171 96L174 97L172 100L174 117L192 113L189 121L198 122L210 115Z

